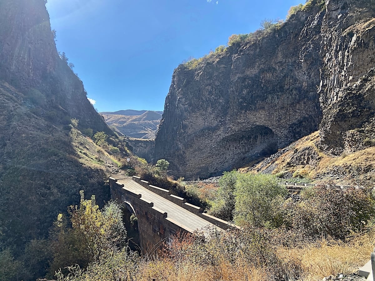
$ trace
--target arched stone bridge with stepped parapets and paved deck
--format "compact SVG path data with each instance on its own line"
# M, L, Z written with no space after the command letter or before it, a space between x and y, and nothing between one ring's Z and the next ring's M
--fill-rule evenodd
M193 233L207 226L225 230L233 226L137 176L111 177L110 186L112 199L138 218L139 246L143 253L158 251L178 232Z

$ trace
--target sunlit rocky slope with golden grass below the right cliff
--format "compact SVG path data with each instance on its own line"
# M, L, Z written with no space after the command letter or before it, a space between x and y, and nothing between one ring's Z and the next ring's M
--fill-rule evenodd
M314 132L258 164L240 168L241 172L271 173L289 182L324 182L341 185L375 182L375 142L360 141L355 152L335 156L319 148L320 132Z

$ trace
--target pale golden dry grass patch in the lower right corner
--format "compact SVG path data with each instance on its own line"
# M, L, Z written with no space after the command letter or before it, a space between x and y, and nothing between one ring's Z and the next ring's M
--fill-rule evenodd
M278 256L285 263L300 267L303 280L321 280L338 273L351 274L370 259L375 246L375 238L365 235L350 244L322 241L319 245L303 248L279 248Z

